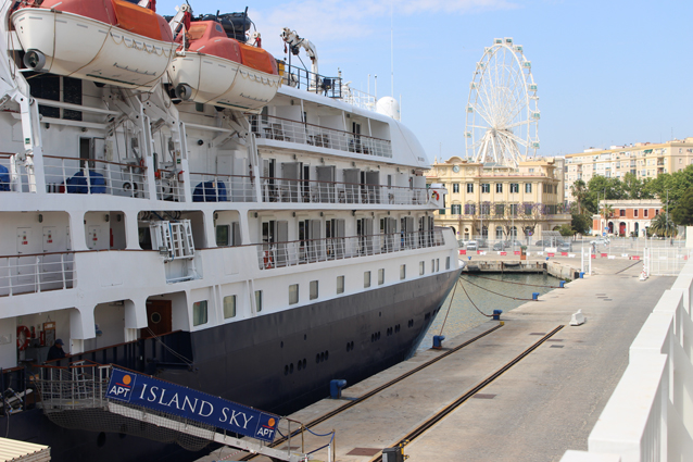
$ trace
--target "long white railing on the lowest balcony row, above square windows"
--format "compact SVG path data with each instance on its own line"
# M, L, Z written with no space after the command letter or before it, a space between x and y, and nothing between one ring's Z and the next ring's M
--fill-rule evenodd
M257 244L261 270L443 246L442 229Z

